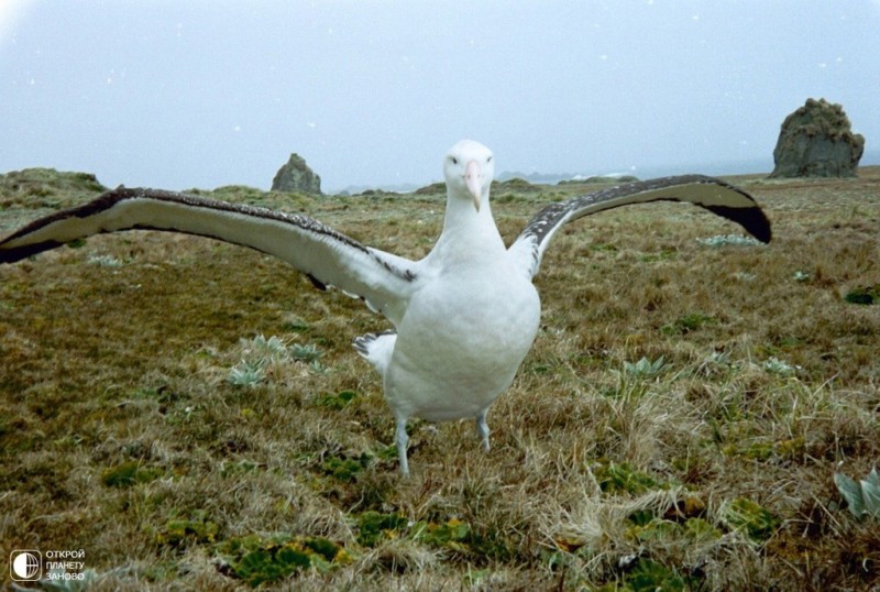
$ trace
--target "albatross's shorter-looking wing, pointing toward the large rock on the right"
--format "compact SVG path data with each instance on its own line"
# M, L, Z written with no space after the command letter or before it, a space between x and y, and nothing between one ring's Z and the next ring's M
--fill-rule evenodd
M627 183L550 204L535 215L508 252L515 263L534 277L550 239L565 222L648 201L688 201L737 222L761 242L770 242L770 221L749 194L713 177L682 175Z

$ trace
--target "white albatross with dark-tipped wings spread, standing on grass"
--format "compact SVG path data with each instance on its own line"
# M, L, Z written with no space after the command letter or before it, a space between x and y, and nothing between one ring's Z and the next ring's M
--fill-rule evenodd
M40 218L0 240L0 263L13 263L101 232L162 230L209 237L274 255L385 316L394 330L354 339L382 377L396 420L400 471L410 417L471 418L490 449L486 413L507 388L538 332L541 305L532 279L566 222L658 200L700 206L767 243L770 222L744 190L702 175L628 183L538 211L507 246L495 226L490 189L495 163L479 142L446 154L443 230L419 261L362 244L301 215L158 189L110 190L94 201Z

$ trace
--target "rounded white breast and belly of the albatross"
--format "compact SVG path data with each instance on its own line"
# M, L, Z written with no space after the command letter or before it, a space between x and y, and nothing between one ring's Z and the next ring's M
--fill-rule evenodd
M476 417L510 386L539 317L531 282L498 261L446 273L410 300L385 373L385 396L407 417Z

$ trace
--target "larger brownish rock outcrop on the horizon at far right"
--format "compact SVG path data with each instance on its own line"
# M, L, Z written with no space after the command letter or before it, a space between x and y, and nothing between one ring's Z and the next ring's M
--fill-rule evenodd
M842 106L807 99L782 122L770 176L855 177L864 151Z

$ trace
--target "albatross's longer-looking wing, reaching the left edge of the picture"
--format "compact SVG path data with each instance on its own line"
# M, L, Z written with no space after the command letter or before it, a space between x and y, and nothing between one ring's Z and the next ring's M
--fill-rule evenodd
M394 324L403 317L416 279L411 261L365 246L306 216L157 189L114 189L34 220L0 240L0 263L91 234L133 229L250 246L289 263L320 288L336 286L362 298Z

